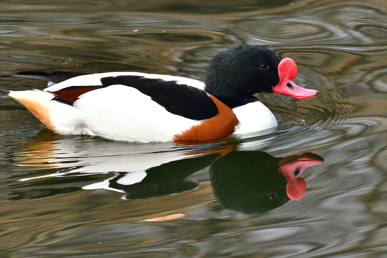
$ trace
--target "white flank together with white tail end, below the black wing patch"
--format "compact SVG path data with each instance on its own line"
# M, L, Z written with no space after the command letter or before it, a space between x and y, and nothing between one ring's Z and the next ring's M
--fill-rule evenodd
M54 131L62 135L88 134L122 141L166 142L200 123L171 114L151 97L124 85L89 91L79 96L74 107L52 101L54 95L45 91L11 91L9 95L44 106Z

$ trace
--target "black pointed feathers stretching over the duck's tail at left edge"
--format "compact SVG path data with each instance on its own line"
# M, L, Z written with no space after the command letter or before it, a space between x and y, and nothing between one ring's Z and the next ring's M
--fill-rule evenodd
M89 74L87 72L36 72L36 71L24 71L18 72L16 74L4 74L0 77L23 77L23 78L33 78L41 79L44 81L50 81L52 83L60 83L66 81L72 77L77 77L81 75Z

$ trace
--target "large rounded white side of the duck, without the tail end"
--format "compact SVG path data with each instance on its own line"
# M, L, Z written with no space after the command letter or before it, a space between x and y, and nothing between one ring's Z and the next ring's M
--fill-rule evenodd
M200 121L171 114L139 90L111 85L89 91L74 102L95 135L122 141L172 141Z

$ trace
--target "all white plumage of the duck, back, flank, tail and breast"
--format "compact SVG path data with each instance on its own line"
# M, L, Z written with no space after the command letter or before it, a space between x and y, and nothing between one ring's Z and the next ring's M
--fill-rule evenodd
M31 108L48 128L63 134L88 134L122 141L172 141L176 134L200 124L200 120L188 119L168 112L138 89L125 85L110 85L80 95L73 105L52 100L54 94L73 86L102 86L101 78L115 76L142 76L144 78L173 81L203 90L204 83L194 79L144 74L139 72L107 72L73 77L53 84L43 91L10 91L9 96L23 105L35 105L45 110L48 124ZM52 83L51 83L52 84ZM32 107L33 109L34 107ZM238 119L235 134L261 131L277 126L271 111L261 102L255 101L233 108Z

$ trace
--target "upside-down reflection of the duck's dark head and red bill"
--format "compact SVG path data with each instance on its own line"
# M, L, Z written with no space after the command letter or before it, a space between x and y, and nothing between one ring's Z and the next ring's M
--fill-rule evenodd
M313 153L276 158L263 151L234 151L212 163L211 185L225 208L262 214L300 199L306 189L301 172L322 162Z

